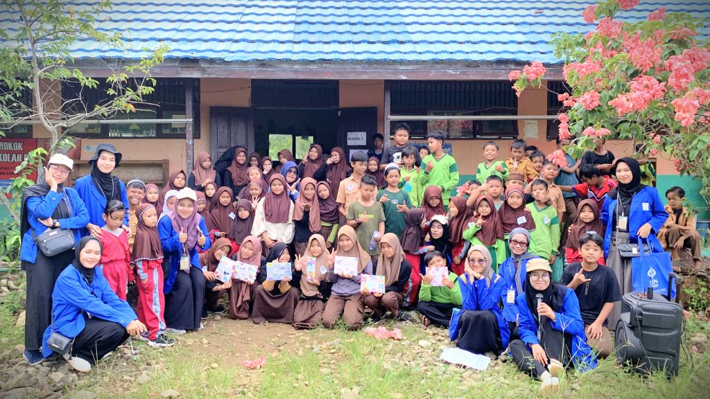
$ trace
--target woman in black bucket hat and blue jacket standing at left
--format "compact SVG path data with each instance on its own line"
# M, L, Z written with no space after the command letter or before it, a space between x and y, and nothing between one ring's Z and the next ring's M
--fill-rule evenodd
M121 182L119 177L112 175L114 169L121 165L123 155L116 151L116 147L109 143L100 143L96 147L96 151L91 159L91 173L84 177L80 177L74 183L74 189L77 190L79 196L86 204L87 212L89 212L89 223L86 228L82 229L82 236L92 234L92 236L100 237L103 232L101 230L105 222L102 217L106 204L111 200L119 200L124 205L129 204L129 197L126 193L126 185ZM124 218L124 229L130 235L129 229L129 214L126 213Z

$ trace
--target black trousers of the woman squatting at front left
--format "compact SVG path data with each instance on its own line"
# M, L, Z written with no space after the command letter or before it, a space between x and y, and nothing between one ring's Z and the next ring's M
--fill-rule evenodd
M77 356L91 364L96 364L105 354L126 341L129 333L121 324L103 319L87 319L86 327L74 339L72 356Z

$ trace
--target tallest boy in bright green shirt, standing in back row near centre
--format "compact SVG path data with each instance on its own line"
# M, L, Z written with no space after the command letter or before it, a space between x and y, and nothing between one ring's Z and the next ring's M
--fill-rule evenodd
M444 153L444 135L441 132L430 133L427 146L431 153L422 160L426 169L420 174L419 181L424 189L430 185L440 187L444 207L448 207L451 190L459 185L459 168L454 157Z

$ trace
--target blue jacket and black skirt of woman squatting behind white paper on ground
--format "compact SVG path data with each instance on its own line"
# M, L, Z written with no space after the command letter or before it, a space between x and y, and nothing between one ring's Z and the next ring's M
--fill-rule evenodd
M493 351L500 354L508 347L510 331L498 306L501 293L506 285L499 275L493 273L491 283L486 278L471 280L462 274L458 282L461 290L461 315L457 324L457 334L452 334L461 349L474 354Z

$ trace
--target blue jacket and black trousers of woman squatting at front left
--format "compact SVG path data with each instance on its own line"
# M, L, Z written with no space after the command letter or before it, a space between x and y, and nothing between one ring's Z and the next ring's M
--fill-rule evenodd
M53 353L46 342L55 331L74 339L72 356L95 364L129 337L126 327L138 319L128 302L111 290L100 268L94 268L89 284L77 268L68 266L57 279L52 300L54 322L42 338L45 357Z

